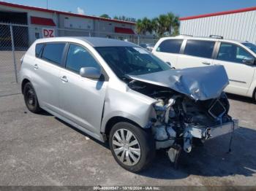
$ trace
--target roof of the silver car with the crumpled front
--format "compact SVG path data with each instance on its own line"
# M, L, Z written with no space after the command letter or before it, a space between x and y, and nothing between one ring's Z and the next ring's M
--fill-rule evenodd
M53 37L47 39L38 39L37 43L44 42L75 42L80 40L87 42L92 47L138 47L137 44L131 42L125 42L118 39L107 39L101 37L81 37L81 36L70 36L70 37Z

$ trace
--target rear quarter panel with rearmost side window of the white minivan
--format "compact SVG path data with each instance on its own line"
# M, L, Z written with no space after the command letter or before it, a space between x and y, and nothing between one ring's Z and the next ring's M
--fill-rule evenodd
M176 62L182 42L183 39L166 39L159 44L154 51L154 55L162 59L162 61L170 63L171 66L177 67Z

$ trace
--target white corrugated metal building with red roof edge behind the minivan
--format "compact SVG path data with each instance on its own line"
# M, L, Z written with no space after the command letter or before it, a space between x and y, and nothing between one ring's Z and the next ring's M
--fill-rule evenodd
M180 34L256 42L256 7L181 17Z

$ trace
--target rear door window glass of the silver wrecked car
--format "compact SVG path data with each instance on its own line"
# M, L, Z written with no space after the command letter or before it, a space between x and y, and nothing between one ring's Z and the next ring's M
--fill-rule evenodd
M61 65L65 43L47 43L42 51L42 59Z

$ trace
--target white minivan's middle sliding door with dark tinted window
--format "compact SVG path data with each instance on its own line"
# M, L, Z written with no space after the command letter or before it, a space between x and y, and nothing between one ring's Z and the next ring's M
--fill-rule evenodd
M214 62L214 41L187 39L185 44L177 58L177 69L209 66Z

